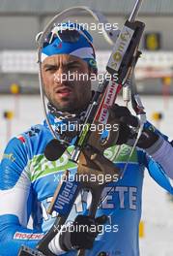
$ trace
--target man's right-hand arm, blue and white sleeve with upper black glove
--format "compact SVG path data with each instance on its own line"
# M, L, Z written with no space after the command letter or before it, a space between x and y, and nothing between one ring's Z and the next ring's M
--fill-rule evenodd
M135 123L136 117L132 115L126 107L118 105L113 106L110 113L120 127L117 144L133 145L135 135L131 134L130 126L137 126ZM150 176L152 176L160 186L172 194L173 188L168 177L173 178L173 169L171 167L173 147L172 144L168 142L167 136L161 134L156 127L147 121L137 146L142 149L139 150L139 162L147 167Z

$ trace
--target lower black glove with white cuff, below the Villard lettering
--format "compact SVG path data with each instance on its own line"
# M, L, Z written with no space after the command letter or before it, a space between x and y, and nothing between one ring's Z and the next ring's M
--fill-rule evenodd
M99 225L103 225L106 221L106 215L98 218L77 215L72 226L65 232L62 232L60 236L61 248L65 251L91 249L96 237L101 232L99 231Z

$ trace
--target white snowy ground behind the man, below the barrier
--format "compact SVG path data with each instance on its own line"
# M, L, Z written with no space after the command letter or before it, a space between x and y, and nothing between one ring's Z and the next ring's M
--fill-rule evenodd
M142 101L149 120L152 119L153 112L163 113L160 130L173 139L173 97L164 101L162 97L143 96ZM16 113L11 125L3 118L4 111ZM14 96L0 96L0 156L7 142L7 126L10 128L11 136L14 136L42 120L43 111L39 96L22 96L18 101ZM142 220L145 236L140 240L141 256L172 256L173 203L147 174L143 192Z

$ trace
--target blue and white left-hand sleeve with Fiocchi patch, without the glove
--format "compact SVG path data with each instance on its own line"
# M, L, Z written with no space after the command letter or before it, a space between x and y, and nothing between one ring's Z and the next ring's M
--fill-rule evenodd
M14 138L0 165L0 255L17 255L22 244L35 247L43 233L27 229L32 204L27 148ZM9 254L10 253L10 254Z

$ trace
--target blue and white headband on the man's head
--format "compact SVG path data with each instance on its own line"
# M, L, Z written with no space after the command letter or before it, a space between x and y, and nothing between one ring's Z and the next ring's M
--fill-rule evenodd
M53 30L76 30L79 32L79 38L76 42L64 42L56 36L50 44L45 42L42 51L42 61L47 57L55 54L70 54L86 61L92 68L97 69L95 50L92 46L92 36L79 24L63 23ZM54 33L52 30L52 33ZM56 33L55 33L56 35Z

